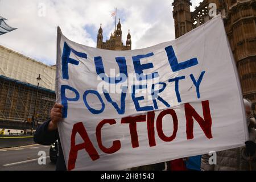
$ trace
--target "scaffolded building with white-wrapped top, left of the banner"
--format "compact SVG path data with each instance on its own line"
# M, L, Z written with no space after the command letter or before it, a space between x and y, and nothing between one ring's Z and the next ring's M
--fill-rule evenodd
M0 46L0 128L31 129L34 113L35 126L46 121L55 103L55 69Z

